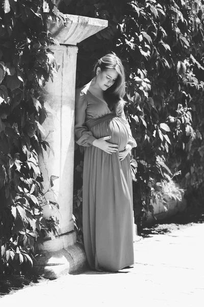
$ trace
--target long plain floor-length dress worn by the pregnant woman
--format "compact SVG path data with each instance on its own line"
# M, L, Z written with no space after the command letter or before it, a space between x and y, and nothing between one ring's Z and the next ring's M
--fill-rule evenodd
M130 155L120 161L92 145L109 142L136 147L123 107L117 115L85 85L76 93L75 141L85 146L83 171L83 234L89 266L97 271L118 271L134 264L133 200Z

